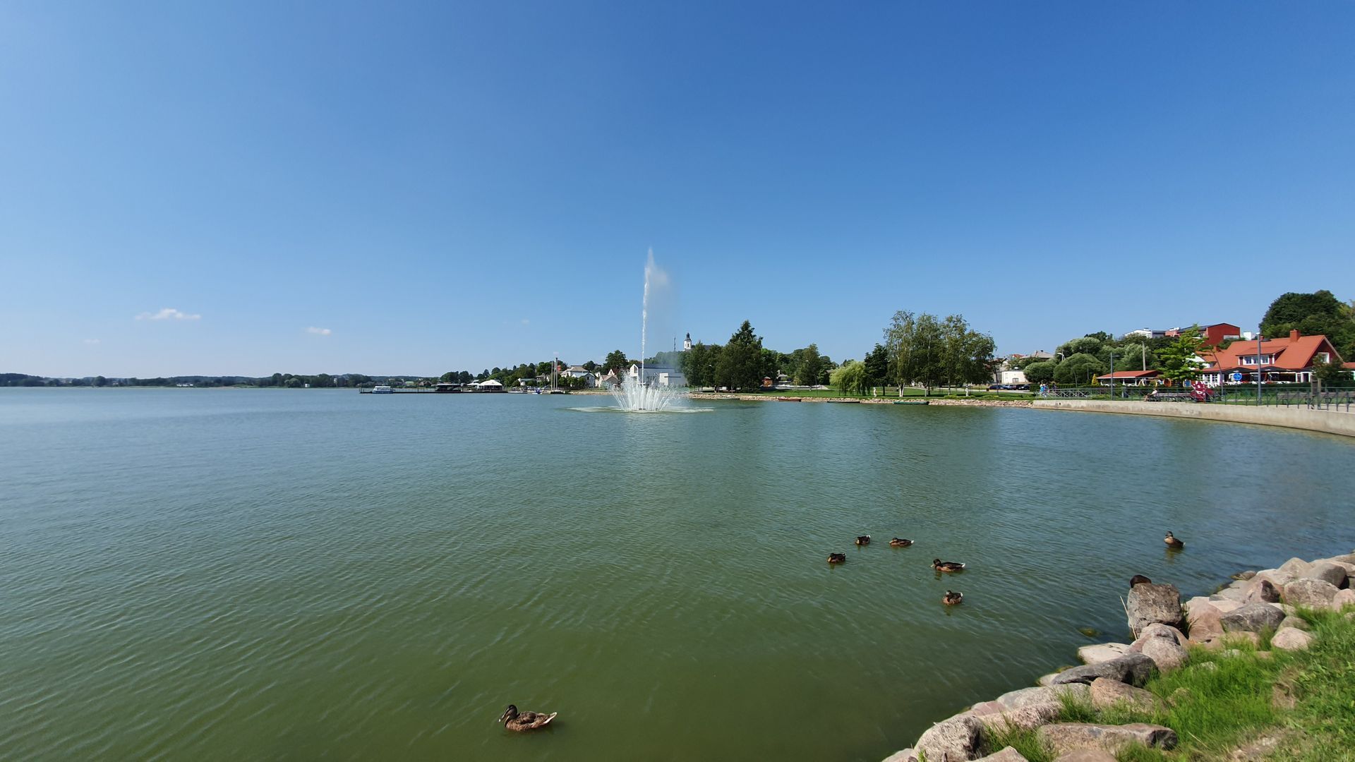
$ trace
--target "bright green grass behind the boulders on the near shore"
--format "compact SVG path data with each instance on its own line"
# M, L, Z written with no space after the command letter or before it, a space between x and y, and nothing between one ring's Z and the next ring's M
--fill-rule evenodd
M1276 762L1355 762L1355 621L1332 611L1299 610L1317 637L1308 651L1274 651L1268 658L1241 641L1238 654L1192 648L1184 668L1156 674L1148 690L1163 700L1152 712L1126 706L1093 709L1062 696L1064 723L1152 723L1176 731L1172 751L1130 747L1118 762L1222 762L1240 746L1279 738L1267 757ZM1271 633L1263 633L1263 644ZM1209 666L1213 664L1213 666ZM1293 706L1275 701L1291 697ZM991 748L1012 746L1031 762L1051 755L1034 731L995 731Z

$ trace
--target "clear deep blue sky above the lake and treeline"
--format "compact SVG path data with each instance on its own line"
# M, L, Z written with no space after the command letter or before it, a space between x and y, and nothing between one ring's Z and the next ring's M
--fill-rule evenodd
M1355 298L1350 3L4 3L0 372L1001 353ZM165 312L172 309L176 312Z

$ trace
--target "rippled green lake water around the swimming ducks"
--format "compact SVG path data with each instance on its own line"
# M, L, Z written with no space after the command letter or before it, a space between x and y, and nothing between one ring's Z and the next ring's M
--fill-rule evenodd
M608 403L0 389L0 758L877 761L1122 637L1135 572L1355 545L1332 437Z

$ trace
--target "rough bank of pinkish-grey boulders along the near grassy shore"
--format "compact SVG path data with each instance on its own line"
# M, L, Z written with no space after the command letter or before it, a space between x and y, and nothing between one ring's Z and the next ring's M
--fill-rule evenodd
M1182 605L1172 584L1152 582L1130 588L1125 610L1133 643L1103 643L1077 649L1084 662L1062 673L1039 678L1037 687L1004 693L974 704L954 717L928 728L917 742L885 762L1023 762L1012 747L993 748L997 734L1011 728L1034 729L1056 762L1115 762L1127 744L1163 750L1176 746L1176 731L1164 725L1061 723L1065 701L1093 709L1129 705L1153 710L1164 706L1144 685L1157 673L1191 668L1188 645L1230 654L1241 644L1255 648L1263 632L1274 632L1272 649L1308 648L1313 635L1295 606L1313 609L1355 607L1355 553L1304 561L1290 559L1278 569L1249 571L1214 595L1201 595ZM1346 614L1355 618L1355 611ZM1187 636L1187 632L1190 633ZM1266 651L1257 655L1268 656ZM1205 663L1194 668L1215 667Z

